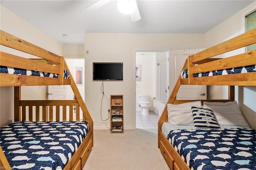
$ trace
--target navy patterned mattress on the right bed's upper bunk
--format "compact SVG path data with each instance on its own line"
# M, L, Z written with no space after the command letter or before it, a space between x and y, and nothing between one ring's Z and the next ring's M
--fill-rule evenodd
M207 76L214 76L214 75L228 75L228 74L236 74L236 73L250 73L256 72L256 65L248 65L244 67L235 67L230 69L221 69L215 71L207 71L203 73L195 73L193 77L207 77ZM188 78L188 69L182 70L180 73L182 79Z

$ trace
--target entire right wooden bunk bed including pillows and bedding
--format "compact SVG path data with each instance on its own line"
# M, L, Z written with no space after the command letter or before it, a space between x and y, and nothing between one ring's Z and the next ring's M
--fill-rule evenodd
M171 170L256 167L256 143L251 142L256 140L256 130L242 116L234 87L256 86L256 51L236 55L229 52L253 43L256 43L256 29L186 59L158 121L158 148ZM214 57L223 53L229 57ZM181 85L227 85L228 99L178 100ZM242 121L231 122L238 117Z

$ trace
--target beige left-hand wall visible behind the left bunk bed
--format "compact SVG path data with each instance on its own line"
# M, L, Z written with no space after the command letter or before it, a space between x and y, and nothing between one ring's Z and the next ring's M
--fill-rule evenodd
M57 40L42 32L38 28L32 26L16 14L10 12L4 6L0 6L0 29L12 34L25 41L38 45L52 53L62 55L63 45ZM17 51L1 46L1 51L10 52L14 55L19 55ZM29 55L28 55L29 56ZM14 118L14 96L13 87L0 87L0 127L8 124L8 119ZM36 99L44 99L41 93L44 93L44 87L22 87L22 99L35 97ZM46 94L46 93L44 93ZM40 98L41 97L41 98Z

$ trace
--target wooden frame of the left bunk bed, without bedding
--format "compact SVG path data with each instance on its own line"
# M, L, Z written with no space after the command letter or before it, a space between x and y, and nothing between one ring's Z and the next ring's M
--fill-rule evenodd
M66 76L66 79L63 78L65 77L64 75L65 73L66 74L67 72L70 73L68 66L64 60L64 57L51 53L50 51L42 49L41 47L33 45L32 43L26 42L2 30L0 32L0 36L1 36L1 39L0 39L1 45L37 56L39 58L39 59L28 59L28 58L24 58L24 57L12 55L12 54L0 51L0 65L2 68L8 68L8 69L19 68L23 70L29 70L27 72L35 71L35 73L38 73L38 74L51 73L54 75L54 77L51 77L51 75L50 77L40 77L40 76L33 76L33 75L0 73L0 87L14 87L14 123L16 122L20 123L22 121L33 122L34 120L36 120L36 122L41 122L41 123L53 122L55 121L54 120L54 116L55 116L56 117L55 122L65 122L65 123L78 122L81 125L85 126L88 132L86 132L86 130L84 130L84 132L83 131L81 132L81 134L86 134L86 133L87 134L83 139L81 136L79 136L81 138L80 139L78 138L77 140L80 141L79 142L80 145L77 146L77 144L75 144L75 146L77 146L75 151L73 146L66 144L71 148L72 151L74 151L74 153L72 154L72 157L71 157L71 153L69 153L70 155L68 155L68 158L62 157L61 152L55 153L60 156L63 162L66 162L66 164L64 164L64 168L63 168L64 170L70 170L70 169L81 170L93 146L93 121L78 91L76 83L72 78L72 75L69 75L69 77ZM64 73L64 70L65 70L65 73ZM38 100L38 101L21 100L21 86L39 86L39 85L70 85L74 92L75 98L74 100ZM73 116L74 106L76 107L76 116ZM82 113L80 113L80 108L82 110ZM62 116L61 116L61 113L63 113ZM79 118L80 114L82 114L82 117L83 117L82 121ZM61 117L62 117L62 120L61 120ZM86 122L88 124L82 124L81 122L83 123ZM80 129L78 130L81 131ZM56 132L58 133L58 129ZM66 131L66 132L73 133L73 131ZM42 136L44 135L43 133L44 132L42 132ZM77 133L77 132L74 132L74 133ZM2 133L1 135L3 134L4 133ZM66 134L63 134L63 136L64 135ZM58 136L58 135L54 134L50 136ZM51 137L47 137L47 138L52 139ZM59 140L64 140L64 138ZM74 140L74 139L71 139L71 140ZM4 144L4 143L0 143L0 144ZM58 147L61 147L61 146L58 146ZM2 145L2 148L3 148L3 145ZM2 148L0 147L0 163L1 163L0 166L4 169L11 169L14 166L11 165L12 167L10 167L10 164ZM48 153L48 151L45 151L45 152ZM35 154L35 152L33 152L32 154ZM38 155L40 154L42 153L38 153ZM40 161L42 161L43 158L45 159L45 157L42 157ZM52 162L55 162L55 160L52 160ZM26 165L34 165L34 164L26 164ZM21 166L16 166L16 168L19 168L19 167ZM38 169L39 168L40 167L38 167Z

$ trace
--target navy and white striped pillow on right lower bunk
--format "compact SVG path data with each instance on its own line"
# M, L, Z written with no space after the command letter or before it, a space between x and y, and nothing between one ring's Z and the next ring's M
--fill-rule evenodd
M194 126L198 128L220 128L215 115L211 109L191 107Z

